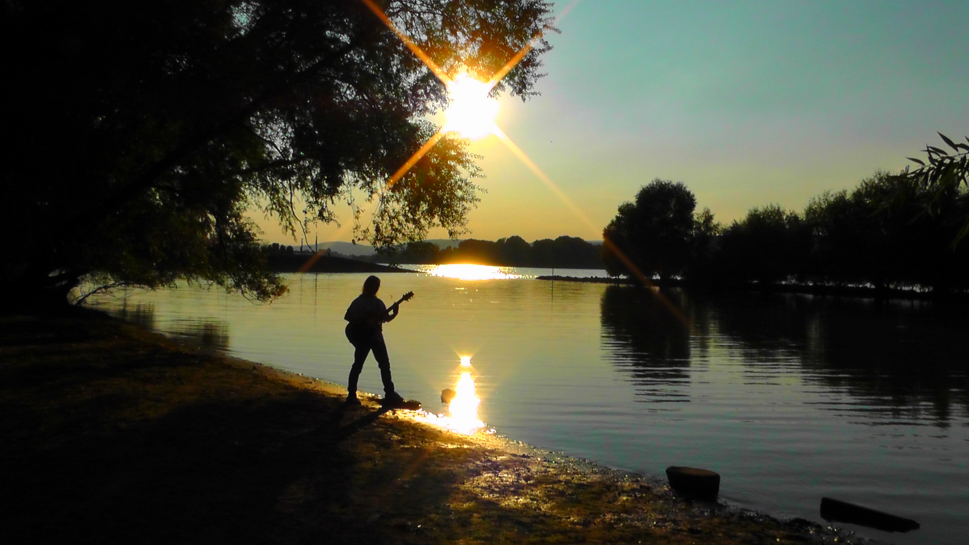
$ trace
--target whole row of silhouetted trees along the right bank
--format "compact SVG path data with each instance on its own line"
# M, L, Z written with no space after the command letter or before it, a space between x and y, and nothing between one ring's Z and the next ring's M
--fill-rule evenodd
M604 230L606 269L709 286L967 289L969 145L942 138L955 152L928 146L927 163L912 159L919 169L876 172L850 191L815 197L801 212L751 208L729 226L709 209L695 212L682 182L655 179Z

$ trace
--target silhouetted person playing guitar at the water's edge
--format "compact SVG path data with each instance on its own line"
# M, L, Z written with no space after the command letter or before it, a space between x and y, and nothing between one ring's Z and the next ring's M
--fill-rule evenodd
M378 290L380 290L380 278L372 274L367 276L363 281L362 293L343 315L343 319L349 322L346 328L347 339L354 345L354 365L350 368L350 378L347 382L346 402L348 404L359 404L357 381L360 371L363 370L363 362L370 351L373 351L373 357L377 359L380 378L384 382L383 403L394 405L404 402L404 399L393 389L391 360L387 354L387 344L384 342L384 323L397 317L400 313L400 305L394 303L391 308L388 308L377 298Z

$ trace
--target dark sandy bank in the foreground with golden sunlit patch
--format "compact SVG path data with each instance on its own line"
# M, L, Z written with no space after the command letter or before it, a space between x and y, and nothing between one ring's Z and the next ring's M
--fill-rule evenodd
M94 312L0 317L2 541L851 542L342 395Z

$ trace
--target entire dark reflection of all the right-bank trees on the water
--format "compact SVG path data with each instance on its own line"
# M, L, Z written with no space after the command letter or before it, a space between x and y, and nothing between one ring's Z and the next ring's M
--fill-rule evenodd
M703 358L710 339L720 337L718 343L733 347L728 350L753 380L797 366L806 384L856 400L832 402L835 410L881 415L877 422L937 426L947 426L953 410L969 414L964 308L790 294L662 293L690 317L692 338L648 290L609 286L602 300L607 355L649 401L687 401L691 357Z

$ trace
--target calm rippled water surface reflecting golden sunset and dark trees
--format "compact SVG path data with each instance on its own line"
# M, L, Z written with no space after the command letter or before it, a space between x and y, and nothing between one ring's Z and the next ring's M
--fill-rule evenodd
M498 433L617 468L723 475L721 497L818 521L822 496L914 518L897 543L969 532L969 318L963 306L804 295L717 297L548 282L382 274L394 382L444 410L471 356ZM556 271L563 275L602 272ZM101 298L128 319L281 369L346 384L343 313L367 274L293 274L253 305L196 287ZM664 303L665 301L665 303ZM360 377L380 392L375 362Z

